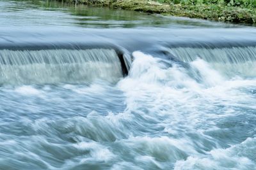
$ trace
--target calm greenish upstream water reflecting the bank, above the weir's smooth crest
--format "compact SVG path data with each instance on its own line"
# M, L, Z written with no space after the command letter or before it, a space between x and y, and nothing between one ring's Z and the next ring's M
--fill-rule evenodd
M235 27L205 20L160 17L58 1L0 1L1 27ZM236 25L237 27L237 25Z

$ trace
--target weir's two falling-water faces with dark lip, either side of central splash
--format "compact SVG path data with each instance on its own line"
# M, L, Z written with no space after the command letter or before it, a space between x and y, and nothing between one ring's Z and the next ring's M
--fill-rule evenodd
M189 46L188 42L177 45L154 47L147 53L182 64L188 71L191 71L190 62L203 59L227 77L256 75L256 46L221 47L218 43ZM43 45L8 48L0 50L1 85L88 83L97 79L115 82L128 74L132 60L129 55L132 51L124 52L111 45L92 44L88 49L83 45L55 46L56 49Z

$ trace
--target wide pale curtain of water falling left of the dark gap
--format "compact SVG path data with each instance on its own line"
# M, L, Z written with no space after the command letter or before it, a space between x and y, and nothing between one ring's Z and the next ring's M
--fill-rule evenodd
M118 81L125 74L118 55L113 49L103 48L0 50L0 84Z

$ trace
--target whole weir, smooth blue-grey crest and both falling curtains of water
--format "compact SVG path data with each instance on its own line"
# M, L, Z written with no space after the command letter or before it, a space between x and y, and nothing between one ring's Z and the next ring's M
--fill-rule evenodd
M227 77L256 73L254 31L200 29L44 31L2 30L0 33L1 84L81 83L97 78L116 81L126 76L131 53L141 51L178 63L188 72L198 58ZM206 32L206 33L205 33ZM218 34L225 35L218 38ZM236 36L233 36L236 34ZM120 38L124 36L125 38ZM25 38L26 37L26 38ZM125 39L125 41L124 41Z

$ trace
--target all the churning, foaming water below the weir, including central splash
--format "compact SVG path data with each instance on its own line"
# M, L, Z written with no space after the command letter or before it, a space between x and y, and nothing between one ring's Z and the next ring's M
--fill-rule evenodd
M115 85L1 87L1 169L254 169L255 79L134 57Z

